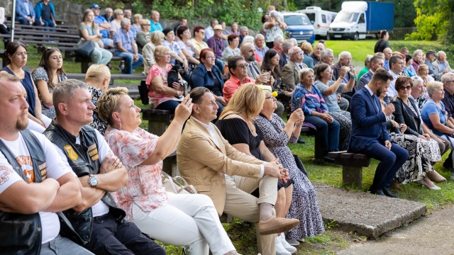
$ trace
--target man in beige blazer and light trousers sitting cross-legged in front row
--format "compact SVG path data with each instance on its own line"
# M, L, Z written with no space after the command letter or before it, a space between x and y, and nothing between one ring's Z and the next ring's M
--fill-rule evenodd
M275 233L287 232L299 220L272 216L277 198L277 179L287 178L287 169L277 162L262 162L239 152L225 140L211 120L218 106L209 89L191 91L192 117L186 123L177 147L179 173L197 192L209 196L218 211L239 219L258 222L258 249L275 255ZM260 198L250 195L259 188Z

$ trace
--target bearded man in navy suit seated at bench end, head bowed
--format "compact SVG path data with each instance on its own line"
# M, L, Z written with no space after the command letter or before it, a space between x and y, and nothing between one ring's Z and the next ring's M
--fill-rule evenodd
M370 186L370 193L397 198L388 187L397 170L408 159L409 153L392 143L384 125L386 116L394 112L394 105L390 103L382 111L377 97L387 92L392 79L386 69L379 68L374 72L370 82L353 95L350 102L352 137L348 150L380 160Z

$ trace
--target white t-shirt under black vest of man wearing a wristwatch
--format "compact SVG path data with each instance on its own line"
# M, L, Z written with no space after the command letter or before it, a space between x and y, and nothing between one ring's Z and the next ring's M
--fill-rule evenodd
M107 144L104 137L99 133L99 131L98 130L94 130L94 131L96 132L96 137L98 139L98 145L99 145L99 147L98 147L99 164L102 164L102 162L104 162L104 159L107 157L107 155L109 155L109 153L112 152L112 150L109 147L109 145ZM80 145L80 137L76 137L76 144ZM65 166L68 169L71 169L70 164L66 160L67 159L66 153L63 152L62 149L60 149L60 147L57 147L57 145L54 144L54 146L57 149L58 154L60 154L60 157L62 157L62 159L65 159L65 160L63 160ZM92 157L94 157L94 156L95 155L93 155ZM96 203L95 205L92 206L92 211L93 211L93 217L102 216L102 215L105 215L107 212L109 212L109 206L106 205L103 201L99 200L98 203Z

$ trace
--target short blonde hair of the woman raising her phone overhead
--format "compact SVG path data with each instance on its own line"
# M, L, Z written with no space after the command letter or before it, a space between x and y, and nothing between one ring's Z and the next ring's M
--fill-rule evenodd
M128 89L125 87L111 88L104 92L97 103L99 118L109 123L109 125L114 125L112 113L119 110L120 104L118 101L124 95L128 95Z

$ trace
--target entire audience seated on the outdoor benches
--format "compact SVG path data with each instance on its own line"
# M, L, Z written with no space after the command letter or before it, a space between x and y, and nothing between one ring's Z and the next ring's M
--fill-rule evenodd
M256 223L261 254L294 253L324 231L314 186L287 147L304 142L303 125L328 162L339 150L380 160L373 194L395 198L389 188L399 184L438 190L434 183L446 181L433 169L454 147L454 73L445 52L393 52L384 30L357 75L350 52L335 63L323 40L314 47L285 40L273 6L255 37L237 23L227 31L213 20L191 31L186 18L162 28L157 11L151 20L131 10L105 13L92 4L79 26L81 38L97 45L85 82L67 79L56 47L45 48L32 72L23 69L26 45L6 47L6 253L165 254L157 240L186 254L238 254L223 213ZM124 73L144 64L150 108L175 115L161 136L139 128L140 108L126 88L108 88L109 47L125 59ZM162 160L175 149L179 173L197 194L162 185ZM443 166L454 179L452 151Z

